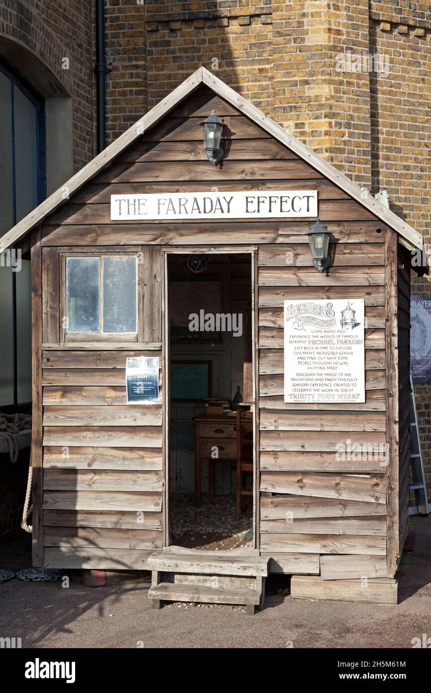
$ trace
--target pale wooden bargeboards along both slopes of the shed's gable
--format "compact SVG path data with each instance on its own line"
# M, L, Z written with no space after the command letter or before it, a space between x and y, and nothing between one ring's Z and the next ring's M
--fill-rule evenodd
M131 143L138 137L141 137L147 130L153 128L156 123L161 121L169 111L171 111L178 103L186 96L192 94L200 85L206 85L214 91L217 96L226 100L230 105L237 108L251 121L259 125L260 128L266 130L268 134L274 137L284 146L291 149L303 161L307 161L313 168L319 171L324 177L336 184L347 195L356 200L365 209L372 212L378 219L394 229L401 236L401 243L407 248L423 249L423 238L421 234L415 231L410 225L406 224L394 212L380 204L371 194L364 195L364 191L347 176L340 173L339 170L331 166L327 161L321 159L313 150L309 149L300 140L289 134L282 125L278 125L266 116L262 111L255 107L250 101L246 100L236 91L228 87L219 78L214 76L205 67L199 67L190 77L181 83L168 96L163 98L154 108L152 108L145 116L140 118L134 125L131 125L129 130L123 132L118 139L113 141L106 149L98 154L94 159L89 161L84 168L75 173L66 183L50 195L38 207L33 209L24 219L15 225L8 233L0 238L0 252L3 252L10 245L17 243L21 238L24 238L28 232L35 226L40 224L49 214L64 202L67 202L86 182L91 180L95 175L100 173L103 168L111 164L121 152L123 152ZM64 199L64 188L68 189L68 198Z

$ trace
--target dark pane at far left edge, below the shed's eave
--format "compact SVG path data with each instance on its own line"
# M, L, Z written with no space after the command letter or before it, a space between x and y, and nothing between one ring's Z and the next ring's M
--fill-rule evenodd
M12 268L0 267L0 407L13 404Z

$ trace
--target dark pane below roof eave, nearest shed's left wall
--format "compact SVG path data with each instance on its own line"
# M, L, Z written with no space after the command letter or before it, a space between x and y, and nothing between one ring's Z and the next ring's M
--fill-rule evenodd
M31 402L31 275L30 260L21 261L17 281L18 404Z

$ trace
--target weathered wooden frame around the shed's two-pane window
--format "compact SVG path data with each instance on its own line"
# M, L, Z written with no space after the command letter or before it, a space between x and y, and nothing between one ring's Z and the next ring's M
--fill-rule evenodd
M85 249L65 249L59 252L59 340L65 344L88 344L90 342L118 342L118 344L135 344L139 341L139 335L143 331L143 315L140 306L143 301L143 276L142 262L139 261L140 249L131 250L98 250L92 249L90 252ZM135 332L103 332L103 265L104 258L107 257L135 257L136 258L136 331ZM62 317L67 317L67 286L66 286L66 260L67 258L90 258L100 259L99 273L99 326L98 332L69 332L64 327Z

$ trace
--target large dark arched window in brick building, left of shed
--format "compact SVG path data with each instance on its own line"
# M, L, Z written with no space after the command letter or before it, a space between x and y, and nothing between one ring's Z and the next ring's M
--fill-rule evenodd
M0 62L0 236L46 197L44 100ZM30 261L0 258L0 407L31 400ZM15 270L15 271L14 271Z

